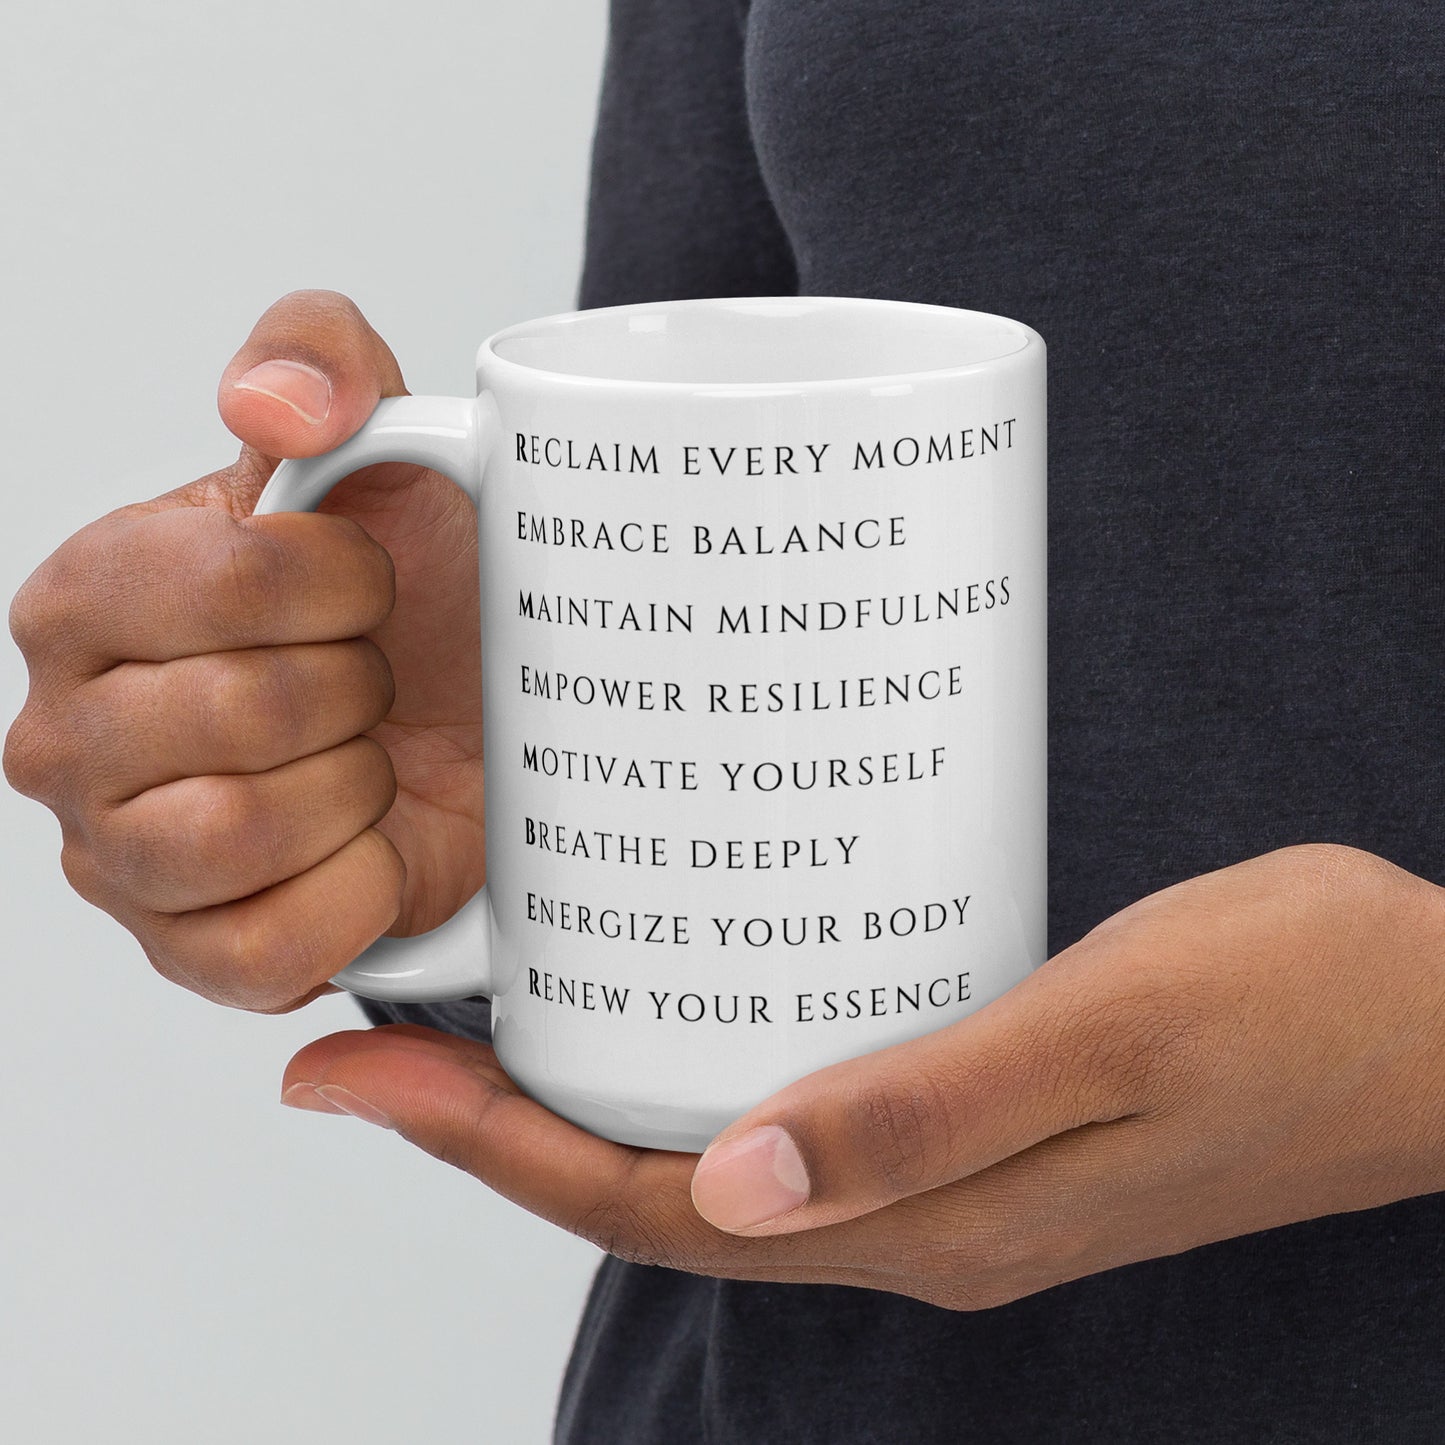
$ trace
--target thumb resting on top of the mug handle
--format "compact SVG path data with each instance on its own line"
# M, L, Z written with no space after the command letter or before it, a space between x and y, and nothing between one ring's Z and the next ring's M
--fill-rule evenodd
M244 444L237 484L260 484L280 457L340 447L383 396L405 396L390 347L350 298L293 290L256 322L221 376L221 420ZM254 499L251 499L254 500Z

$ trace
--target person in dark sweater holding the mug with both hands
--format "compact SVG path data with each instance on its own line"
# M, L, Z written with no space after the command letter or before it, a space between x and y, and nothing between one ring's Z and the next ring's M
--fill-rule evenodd
M1367 61L1360 26L614 0L584 312L871 298L1048 340L1048 961L1023 948L983 1006L783 1084L701 1159L545 1107L481 997L373 998L377 1027L303 1049L286 1103L392 1127L608 1251L559 1439L1445 1433L1422 306L1445 19L1373 12ZM315 514L256 514L279 458L403 397L354 305L285 298L221 381L240 458L94 523L13 608L7 775L55 808L75 887L234 1007L299 1007L497 889L470 462L367 464L289 499ZM512 462L533 431L545 461L497 405ZM884 526L912 486L880 478ZM926 837L952 855L991 837L972 821ZM818 837L841 857L854 834ZM507 874L516 838L493 847ZM965 928L938 957L987 967ZM918 941L874 942L896 985ZM503 1000L545 970L499 961L499 1019L525 1023Z

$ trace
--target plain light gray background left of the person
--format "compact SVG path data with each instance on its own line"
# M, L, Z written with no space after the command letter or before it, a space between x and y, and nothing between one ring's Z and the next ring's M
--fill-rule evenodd
M78 0L4 29L6 600L234 455L217 377L283 292L348 292L416 392L468 392L483 335L575 305L603 0ZM595 1251L279 1107L353 1003L184 993L69 893L48 812L0 789L0 1433L545 1441Z

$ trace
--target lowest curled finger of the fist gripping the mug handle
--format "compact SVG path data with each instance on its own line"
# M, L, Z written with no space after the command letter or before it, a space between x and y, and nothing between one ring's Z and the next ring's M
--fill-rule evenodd
M280 1013L315 997L392 926L405 884L400 854L368 828L250 897L121 922L163 978L233 1009Z

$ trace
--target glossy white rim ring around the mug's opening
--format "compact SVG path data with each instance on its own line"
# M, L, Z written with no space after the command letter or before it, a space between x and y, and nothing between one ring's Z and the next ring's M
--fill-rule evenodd
M929 315L944 315L964 321L988 321L994 325L1004 325L1017 337L1017 345L1007 351L997 351L978 361L967 361L948 367L922 367L912 371L879 371L867 376L824 377L818 380L799 381L656 381L627 377L582 376L575 371L556 371L551 367L529 366L525 361L514 361L501 355L496 347L500 341L513 337L530 337L546 332L562 331L569 325L577 325L584 318L608 316L621 314L643 315L646 312L673 314L679 311L753 311L767 308L779 312L790 309L796 315L805 311L887 311L887 312L926 312ZM626 392L672 393L672 394L704 394L704 396L793 396L814 392L845 392L845 390L877 390L907 387L923 381L948 380L951 377L972 376L980 371L991 371L1007 363L1017 363L1030 351L1045 350L1043 338L1032 327L1012 316L1003 316L990 311L974 311L964 306L941 306L922 301L894 301L886 296L686 296L663 301L636 301L617 306L588 306L574 311L556 311L546 316L533 316L527 321L517 321L493 331L477 348L477 373L500 368L510 373L513 379L527 379L532 384L546 381L561 386L577 386L587 389L613 389Z

